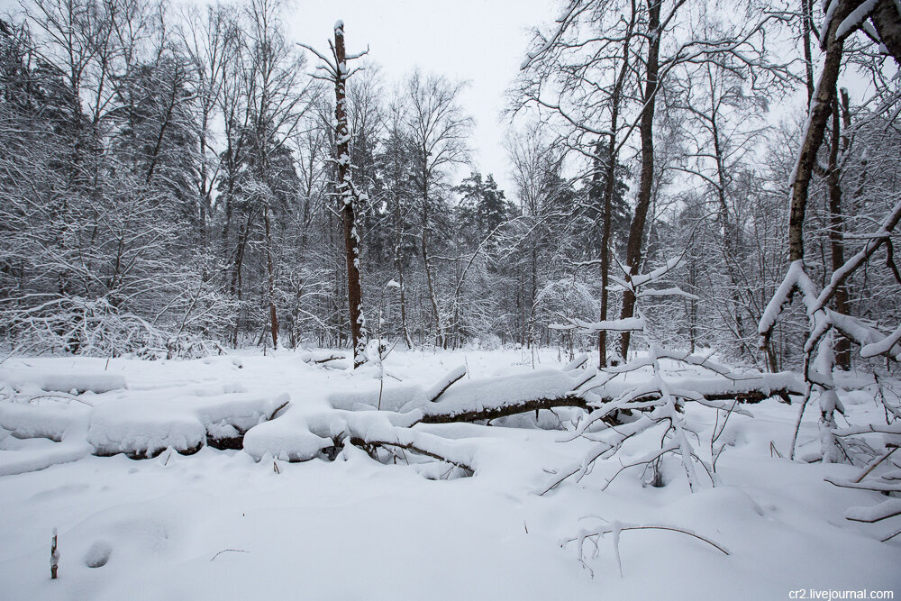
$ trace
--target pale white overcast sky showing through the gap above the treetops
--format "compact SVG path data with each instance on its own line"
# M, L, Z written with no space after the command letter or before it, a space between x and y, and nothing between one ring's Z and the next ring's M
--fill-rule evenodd
M286 21L291 39L323 51L332 26L342 19L348 52L369 44L369 59L380 65L388 83L416 65L469 81L461 104L476 119L474 167L494 174L512 199L506 125L500 122L504 94L523 61L529 31L553 21L556 5L554 0L300 0Z

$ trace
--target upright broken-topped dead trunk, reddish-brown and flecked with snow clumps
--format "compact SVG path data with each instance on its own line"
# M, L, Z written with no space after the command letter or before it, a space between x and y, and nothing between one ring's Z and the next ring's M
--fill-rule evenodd
M338 194L341 202L341 222L344 233L344 256L347 261L347 299L350 310L350 341L353 345L353 367L365 362L366 341L363 332L362 292L359 285L359 236L350 180L350 130L347 125L346 83L347 55L344 50L344 25L335 27L335 121L337 123Z

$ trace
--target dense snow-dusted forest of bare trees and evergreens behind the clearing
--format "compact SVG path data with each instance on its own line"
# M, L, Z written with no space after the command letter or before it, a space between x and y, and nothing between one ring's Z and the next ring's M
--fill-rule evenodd
M806 110L785 107L814 96L821 69L824 9L789 4L566 3L511 87L512 190L472 164L463 84L357 61L346 108L369 334L596 348L597 333L551 325L632 317L628 289L608 295L617 263L681 256L668 278L687 294L643 303L656 341L797 366L796 305L758 348L805 134ZM292 40L284 16L277 0L30 0L0 23L10 347L190 356L271 344L272 323L288 346L350 345L334 96L296 42L322 44ZM365 48L349 24L350 51ZM844 41L810 182L805 263L821 287L898 195L899 83L867 35ZM835 297L886 333L892 240ZM622 351L619 333L600 336ZM841 338L836 351L847 366Z

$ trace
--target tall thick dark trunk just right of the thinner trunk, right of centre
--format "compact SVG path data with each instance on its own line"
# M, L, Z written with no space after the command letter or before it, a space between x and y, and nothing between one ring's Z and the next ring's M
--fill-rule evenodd
M651 196L654 186L654 105L657 101L657 88L660 86L660 5L662 0L648 0L648 32L651 42L648 46L648 59L645 71L644 111L639 132L642 138L642 176L638 186L638 199L635 203L635 214L629 228L629 241L626 244L626 265L632 275L638 274L642 264L642 246L644 245L644 226L648 220L648 209L651 208ZM623 294L623 311L621 317L632 317L635 313L635 295L626 290ZM625 359L629 354L629 341L632 332L623 332L620 338L620 353Z

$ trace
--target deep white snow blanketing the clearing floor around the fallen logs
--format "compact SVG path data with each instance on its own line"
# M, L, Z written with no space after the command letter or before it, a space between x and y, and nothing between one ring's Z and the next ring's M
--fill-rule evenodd
M459 470L434 461L386 465L350 445L334 461L274 459L266 444L287 448L333 405L378 398L375 367L351 373L305 359L280 351L193 361L6 360L0 598L786 599L811 588L893 590L901 598L901 537L879 542L901 518L845 519L849 507L886 497L824 481L854 478L859 468L778 457L787 454L797 405L769 399L749 405L753 418L731 416L717 442L728 444L716 463L721 486L690 493L669 458L666 486L646 486L638 468L602 491L621 460L652 450L650 437L542 496L554 472L592 446L561 442L566 433L552 428L579 410L542 411L542 428L513 427L533 425L533 413L491 428L415 426L475 450L473 478L442 478ZM550 350L397 350L385 363L383 400L414 402L448 374L459 376L460 365L467 375L457 387L501 376L525 382L568 360ZM862 381L847 378L849 387ZM851 423L885 423L871 393L845 391L842 400ZM700 449L709 450L714 417L687 406ZM815 421L814 404L798 456L819 448ZM248 429L253 456L208 446L145 460L92 454L135 445L190 450ZM561 545L611 524L673 526L729 555L663 530L623 531L618 544L607 535L581 560L577 544ZM59 578L51 580L54 528Z

